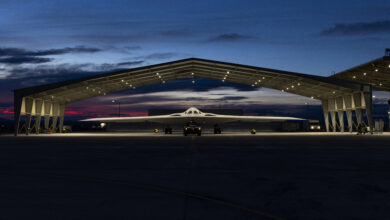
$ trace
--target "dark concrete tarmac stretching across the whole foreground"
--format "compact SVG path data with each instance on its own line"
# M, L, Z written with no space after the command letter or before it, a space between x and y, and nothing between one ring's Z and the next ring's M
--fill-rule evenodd
M390 134L0 136L0 219L388 219Z

